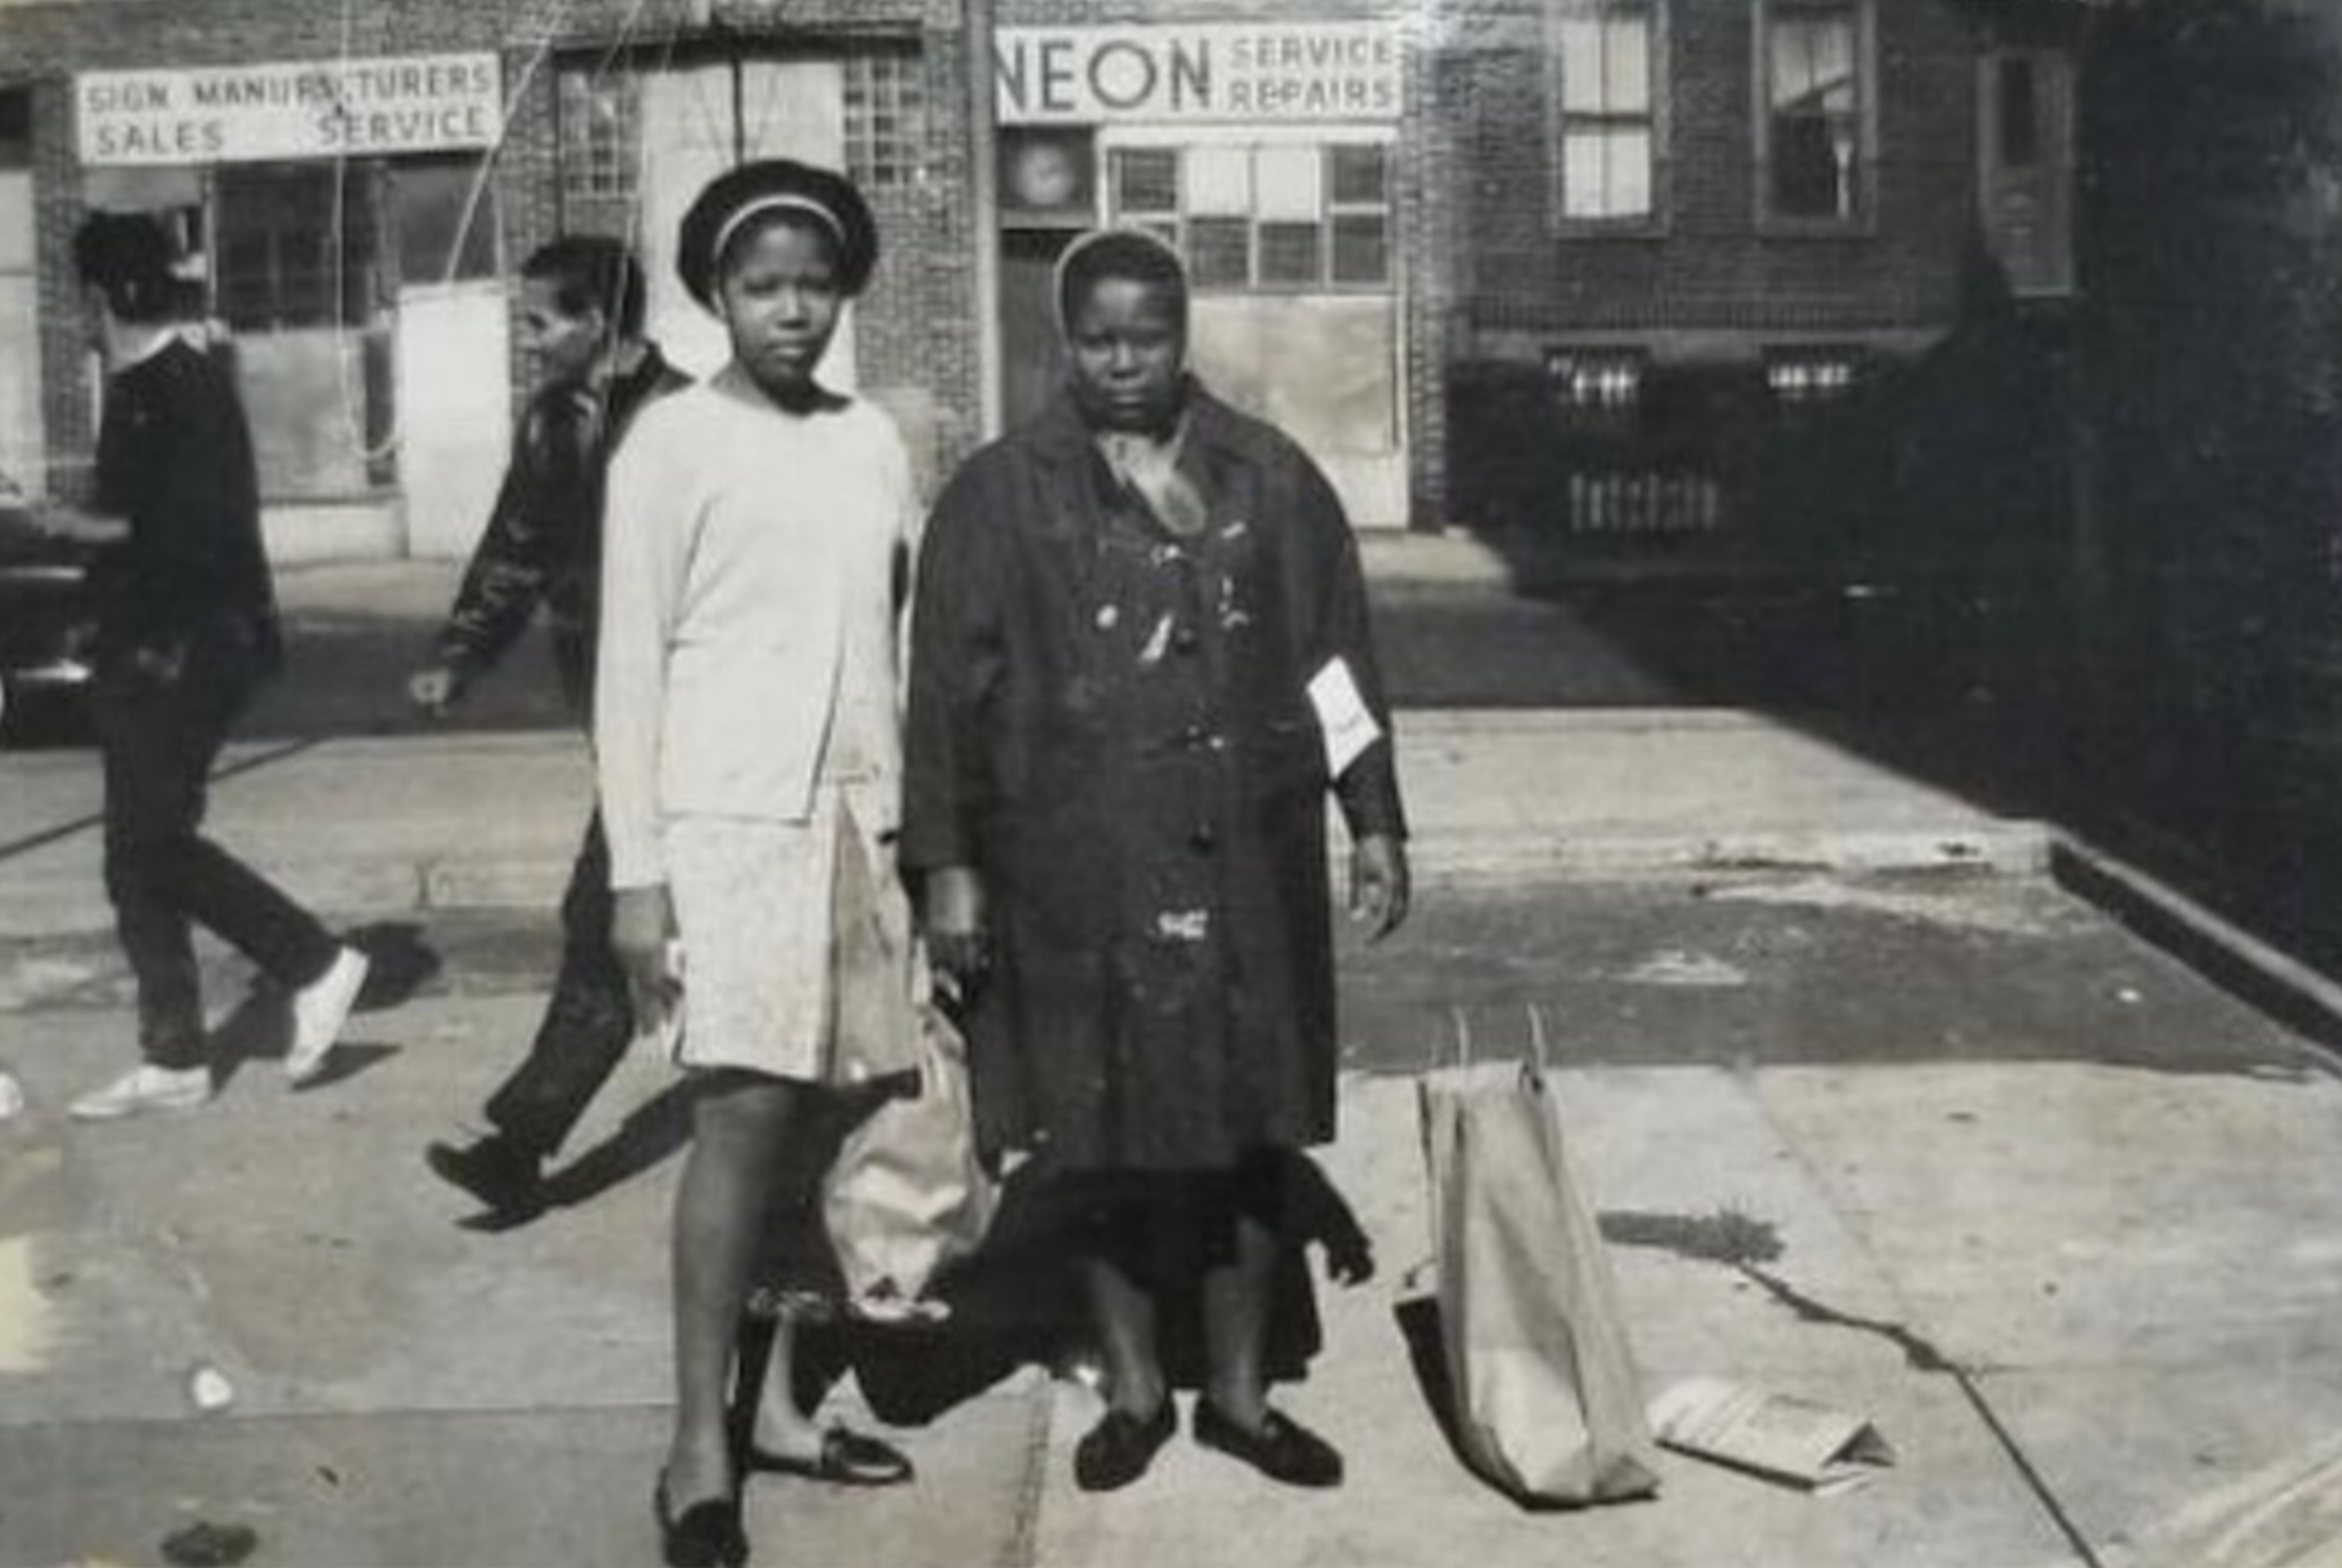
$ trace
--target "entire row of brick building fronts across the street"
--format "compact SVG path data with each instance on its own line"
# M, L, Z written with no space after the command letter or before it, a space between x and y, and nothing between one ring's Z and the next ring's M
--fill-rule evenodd
M714 328L663 265L679 206L735 157L799 152L878 211L885 258L834 370L930 476L1054 382L1070 232L1141 223L1197 267L1199 368L1300 434L1363 525L1707 537L1747 511L1731 469L1775 415L1810 427L1942 340L1979 255L2021 295L2070 291L2070 61L2054 21L2009 21L2063 9L19 2L0 469L80 483L96 389L70 232L94 204L159 206L237 345L281 553L461 553L527 384L518 260L562 230L632 234L653 330L705 368ZM80 145L117 73L478 56L485 148Z

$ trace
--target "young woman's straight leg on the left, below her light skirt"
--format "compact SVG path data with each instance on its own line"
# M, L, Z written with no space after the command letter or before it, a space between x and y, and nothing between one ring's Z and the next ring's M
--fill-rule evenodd
M740 1308L803 1099L803 1085L724 1073L693 1104L691 1153L674 1195L674 1437L665 1484L677 1509L738 1488L726 1409ZM778 1359L787 1359L785 1348L787 1329Z

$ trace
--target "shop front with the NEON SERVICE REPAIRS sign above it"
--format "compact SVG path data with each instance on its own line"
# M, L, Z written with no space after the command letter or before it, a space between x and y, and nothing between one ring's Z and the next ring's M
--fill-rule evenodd
M1436 520L1445 389L1419 0L995 0L1009 417L1056 382L1049 272L1150 227L1197 286L1192 361L1302 441L1361 527Z

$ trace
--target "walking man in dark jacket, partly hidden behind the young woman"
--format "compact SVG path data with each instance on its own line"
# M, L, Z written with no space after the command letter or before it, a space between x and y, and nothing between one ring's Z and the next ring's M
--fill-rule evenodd
M609 455L635 410L686 377L644 338L642 267L616 239L555 239L522 263L520 279L522 333L546 380L513 436L497 511L433 659L408 680L408 696L424 713L445 713L543 605L562 691L583 722L593 713ZM576 1127L632 1038L609 914L609 848L595 811L562 895L562 968L553 1001L529 1055L487 1102L492 1132L426 1151L433 1172L499 1219L525 1219L541 1207L546 1158Z

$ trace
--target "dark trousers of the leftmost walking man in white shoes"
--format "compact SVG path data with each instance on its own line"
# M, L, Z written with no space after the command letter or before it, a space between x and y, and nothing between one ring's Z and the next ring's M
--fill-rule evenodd
M155 1066L204 1066L192 926L297 989L340 952L314 914L201 834L211 764L262 654L244 628L192 638L176 668L105 668L91 701L105 755L105 893L138 977L138 1045Z

